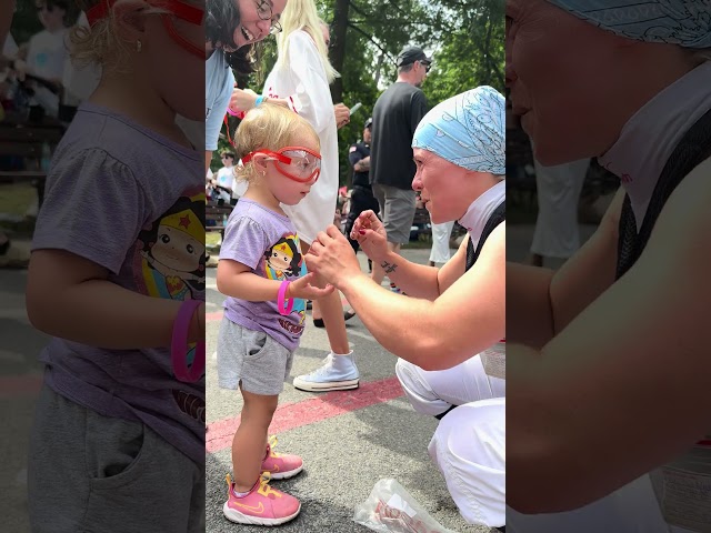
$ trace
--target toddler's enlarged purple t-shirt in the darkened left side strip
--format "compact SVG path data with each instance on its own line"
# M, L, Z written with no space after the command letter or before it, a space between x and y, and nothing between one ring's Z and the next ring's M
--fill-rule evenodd
M130 291L204 301L203 174L202 152L83 104L54 153L32 249L86 258ZM52 339L41 360L59 394L142 421L204 463L204 376L178 381L168 346L107 350Z

